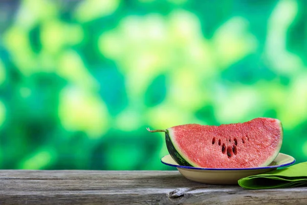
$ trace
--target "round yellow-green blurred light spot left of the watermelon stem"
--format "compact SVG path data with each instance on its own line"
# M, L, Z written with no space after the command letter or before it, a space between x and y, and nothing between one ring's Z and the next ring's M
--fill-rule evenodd
M99 138L109 128L104 102L94 92L67 87L60 93L59 119L69 131L83 131L89 137Z

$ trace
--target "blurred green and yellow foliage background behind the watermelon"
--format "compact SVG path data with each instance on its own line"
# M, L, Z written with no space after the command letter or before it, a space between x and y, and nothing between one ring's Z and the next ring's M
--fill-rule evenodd
M0 1L0 169L166 170L151 129L282 121L307 159L307 1Z

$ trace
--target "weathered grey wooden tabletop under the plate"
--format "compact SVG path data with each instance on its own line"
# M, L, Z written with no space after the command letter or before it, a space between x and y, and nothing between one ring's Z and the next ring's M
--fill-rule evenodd
M178 171L0 170L0 204L307 204L307 187L246 190Z

